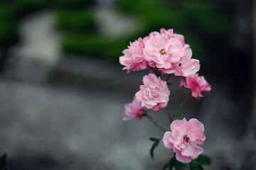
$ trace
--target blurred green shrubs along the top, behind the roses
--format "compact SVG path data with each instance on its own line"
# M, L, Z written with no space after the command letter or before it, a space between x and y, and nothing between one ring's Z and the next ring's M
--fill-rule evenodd
M2 0L4 1L4 0ZM95 0L5 0L0 1L0 45L18 35L18 22L14 17L30 9L50 7L56 10L56 26L64 31L63 52L95 55L118 61L129 41L148 35L160 28L174 28L185 36L193 49L193 57L206 56L207 37L222 36L228 32L230 20L217 7L205 1L170 3L157 0L119 0L115 8L139 19L140 27L133 35L116 40L103 37L96 29L92 6Z

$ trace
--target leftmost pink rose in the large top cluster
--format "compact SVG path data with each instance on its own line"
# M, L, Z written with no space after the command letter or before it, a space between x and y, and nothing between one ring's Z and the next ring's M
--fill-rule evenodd
M119 57L120 64L124 65L123 69L127 72L139 71L139 69L146 69L146 60L143 57L144 42L142 38L135 42L130 42L128 49L123 51L124 56Z

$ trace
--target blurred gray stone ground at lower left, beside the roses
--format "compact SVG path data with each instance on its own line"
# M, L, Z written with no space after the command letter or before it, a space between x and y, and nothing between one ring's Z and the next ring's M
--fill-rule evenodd
M144 169L150 161L147 138L159 136L146 120L122 122L127 100L112 91L1 79L0 94L1 152L10 161L49 155L61 164L75 155L73 166Z

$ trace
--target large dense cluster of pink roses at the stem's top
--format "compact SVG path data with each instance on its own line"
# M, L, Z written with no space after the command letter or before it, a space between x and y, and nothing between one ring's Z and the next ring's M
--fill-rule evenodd
M153 32L145 38L130 42L128 49L119 57L120 64L127 72L139 71L146 67L157 68L162 74L188 77L200 69L199 61L191 59L192 51L185 44L183 35L174 30L161 28L160 33Z

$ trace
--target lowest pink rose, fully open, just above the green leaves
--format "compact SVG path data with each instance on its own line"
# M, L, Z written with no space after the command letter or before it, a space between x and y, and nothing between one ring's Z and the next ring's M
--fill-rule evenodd
M203 153L202 145L206 140L203 135L204 127L201 122L193 118L191 120L174 120L171 123L171 132L165 132L163 137L164 146L168 149L174 149L176 159L182 163L191 162Z

